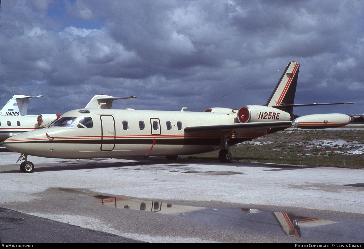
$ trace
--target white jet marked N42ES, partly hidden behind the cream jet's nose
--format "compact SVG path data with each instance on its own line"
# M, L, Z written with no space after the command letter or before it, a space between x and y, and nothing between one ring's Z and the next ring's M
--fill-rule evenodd
M35 129L39 129L59 118L57 114L27 115L31 98L44 96L14 95L0 110L0 142L5 139Z

